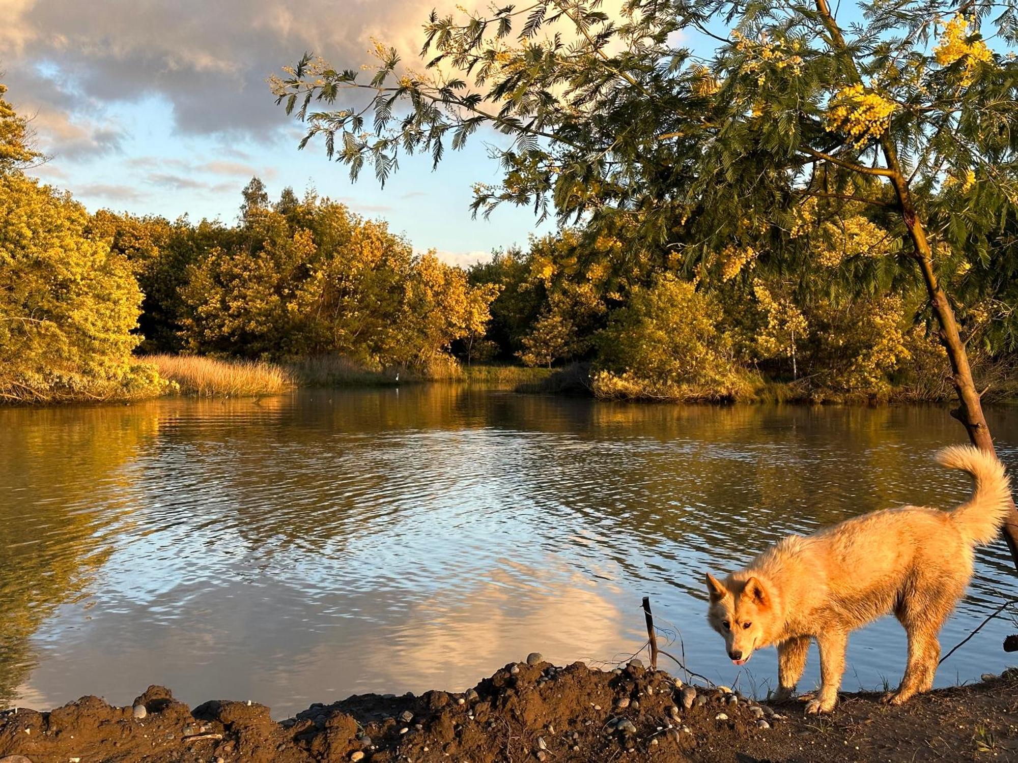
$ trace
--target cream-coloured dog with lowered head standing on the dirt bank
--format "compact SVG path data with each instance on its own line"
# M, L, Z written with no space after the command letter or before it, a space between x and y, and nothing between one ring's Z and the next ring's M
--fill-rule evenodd
M805 712L832 712L848 634L889 612L908 634L908 662L884 701L899 705L932 687L937 636L972 577L973 549L997 537L1011 506L1004 465L992 454L953 446L937 460L975 481L968 502L953 511L871 512L806 537L789 535L724 581L708 573L708 622L732 662L744 664L756 649L777 645L774 699L794 694L816 639L821 688Z

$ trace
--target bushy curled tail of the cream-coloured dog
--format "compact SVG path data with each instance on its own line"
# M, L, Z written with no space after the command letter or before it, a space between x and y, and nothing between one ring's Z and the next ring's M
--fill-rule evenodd
M951 446L937 454L941 466L961 469L972 475L975 487L972 496L951 512L958 529L974 545L982 545L997 537L1011 509L1011 486L1004 473L1004 464L991 453L972 446Z

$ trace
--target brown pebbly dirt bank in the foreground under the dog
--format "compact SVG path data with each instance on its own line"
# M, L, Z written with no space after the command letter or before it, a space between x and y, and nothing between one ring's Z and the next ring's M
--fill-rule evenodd
M1018 670L887 707L845 695L832 718L683 687L634 661L602 671L531 655L464 694L353 696L274 721L269 708L214 700L190 710L162 687L133 706L82 697L0 715L0 763L312 761L1018 760Z

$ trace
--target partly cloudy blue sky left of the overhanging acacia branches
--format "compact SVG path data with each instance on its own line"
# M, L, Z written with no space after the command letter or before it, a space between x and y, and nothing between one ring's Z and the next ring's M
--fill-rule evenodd
M297 150L302 126L265 81L305 51L355 68L373 38L419 50L443 2L0 0L0 81L52 157L36 174L90 210L230 223L258 175L272 196L313 186L465 265L552 229L526 208L471 218L471 183L499 177L484 135L434 172L406 159L384 189L366 171L351 183L321 144Z

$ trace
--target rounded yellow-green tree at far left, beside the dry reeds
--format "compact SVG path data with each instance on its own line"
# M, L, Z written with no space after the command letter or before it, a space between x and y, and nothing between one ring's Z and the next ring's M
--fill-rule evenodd
M131 350L142 294L127 260L88 235L84 209L0 175L0 398L50 402L158 394Z

